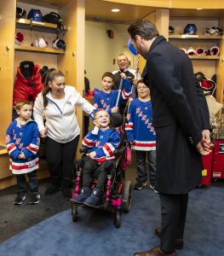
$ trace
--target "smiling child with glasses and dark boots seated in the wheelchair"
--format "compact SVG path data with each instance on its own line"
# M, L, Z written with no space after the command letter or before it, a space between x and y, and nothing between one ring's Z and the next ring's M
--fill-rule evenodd
M107 173L114 170L114 150L118 148L120 136L116 129L111 129L110 115L106 110L99 110L94 115L95 128L83 138L83 146L89 151L83 166L83 189L71 200L89 207L99 204ZM95 189L90 189L92 174L98 169Z

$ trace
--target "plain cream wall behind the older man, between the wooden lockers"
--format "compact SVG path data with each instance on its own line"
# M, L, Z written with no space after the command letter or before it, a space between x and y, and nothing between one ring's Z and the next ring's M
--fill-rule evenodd
M128 27L128 25L122 24L85 22L85 70L90 81L91 90L94 88L101 89L103 73L117 70L117 56L123 52L128 53ZM113 30L114 38L108 38L106 30ZM131 53L129 58L131 64L133 64ZM114 59L115 64L113 64Z

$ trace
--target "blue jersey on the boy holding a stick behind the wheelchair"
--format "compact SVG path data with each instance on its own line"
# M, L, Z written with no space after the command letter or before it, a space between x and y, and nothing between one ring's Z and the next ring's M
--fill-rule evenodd
M119 90L111 90L109 93L104 92L103 90L95 89L94 96L94 106L95 108L103 108L108 111L109 114L112 113L112 108L116 107L116 102L118 98ZM120 103L128 99L131 96L131 84L129 79L123 79L123 90L121 91L118 107Z

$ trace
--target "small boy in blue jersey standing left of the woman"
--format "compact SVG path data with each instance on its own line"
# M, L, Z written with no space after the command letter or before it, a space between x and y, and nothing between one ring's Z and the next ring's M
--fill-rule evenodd
M16 175L17 196L14 205L21 205L26 200L26 174L29 177L31 191L30 204L37 204L38 193L37 168L39 159L39 132L37 124L31 119L32 102L17 102L16 112L19 117L9 125L6 131L9 169Z

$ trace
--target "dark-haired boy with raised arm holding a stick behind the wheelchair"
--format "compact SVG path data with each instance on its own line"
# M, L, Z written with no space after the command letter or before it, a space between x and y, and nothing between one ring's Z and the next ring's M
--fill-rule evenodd
M112 85L114 84L113 74L109 72L103 74L101 82L103 90L95 89L95 108L105 109L106 111L108 111L109 114L119 112L119 106L121 102L131 96L131 84L129 83L129 79L127 79L125 73L121 73L120 75L123 79L123 89L121 90L119 95L119 90L112 90ZM116 106L117 100L118 106Z

